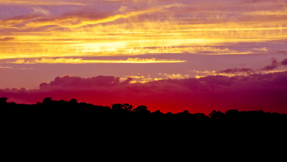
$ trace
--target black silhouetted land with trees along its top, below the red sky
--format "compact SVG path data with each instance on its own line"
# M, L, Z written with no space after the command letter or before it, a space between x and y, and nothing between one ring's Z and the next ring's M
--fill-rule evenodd
M281 153L278 148L286 146L287 114L236 109L214 110L208 115L189 111L164 114L150 112L143 105L103 107L51 98L26 105L0 99L2 143L11 157L15 150L24 151L23 156L29 158L38 154L49 159L51 155L75 157L79 152L121 156L138 152L143 156L184 151L189 155L192 150L208 148L229 152L275 148Z

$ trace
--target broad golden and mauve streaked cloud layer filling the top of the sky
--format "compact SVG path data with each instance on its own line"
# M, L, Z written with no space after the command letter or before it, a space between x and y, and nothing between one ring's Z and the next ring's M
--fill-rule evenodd
M253 51L224 44L278 42L287 35L284 0L0 4L0 59L198 53L199 45L212 49L205 54L244 54Z

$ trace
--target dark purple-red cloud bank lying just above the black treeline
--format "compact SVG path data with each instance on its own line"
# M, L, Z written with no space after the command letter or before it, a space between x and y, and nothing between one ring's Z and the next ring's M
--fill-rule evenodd
M39 89L0 89L7 102L35 104L46 97L53 100L74 98L78 101L104 106L129 103L134 107L146 105L150 111L208 114L212 110L225 112L263 110L287 113L287 71L249 76L206 76L202 78L166 79L130 84L131 78L120 82L118 77L76 76L57 77L41 83Z

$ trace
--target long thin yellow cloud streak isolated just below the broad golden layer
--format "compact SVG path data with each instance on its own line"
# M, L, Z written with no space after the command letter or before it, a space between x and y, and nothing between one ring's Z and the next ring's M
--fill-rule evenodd
M42 58L40 60L35 59L33 61L25 61L24 59L17 59L16 61L8 61L7 63L18 63L18 64L36 64L36 63L179 63L185 62L174 59L141 59L141 58L128 58L127 60L83 60L77 59L66 59L66 58Z

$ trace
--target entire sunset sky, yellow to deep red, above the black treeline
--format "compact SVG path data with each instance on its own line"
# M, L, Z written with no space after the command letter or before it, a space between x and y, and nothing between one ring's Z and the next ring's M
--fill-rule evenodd
M0 97L287 113L286 0L0 0Z

